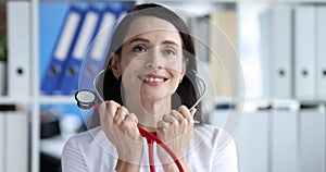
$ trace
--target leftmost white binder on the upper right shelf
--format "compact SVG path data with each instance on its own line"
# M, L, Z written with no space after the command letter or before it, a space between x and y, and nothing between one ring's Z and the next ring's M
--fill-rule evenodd
M272 7L261 14L260 22L264 88L268 89L264 94L267 98L290 99L293 89L292 8Z

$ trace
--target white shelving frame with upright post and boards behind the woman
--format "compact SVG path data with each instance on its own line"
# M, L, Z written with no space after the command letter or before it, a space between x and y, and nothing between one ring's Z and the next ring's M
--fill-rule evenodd
M90 2L89 0L83 0L84 2ZM7 1L4 1L7 2ZM26 107L28 106L28 109L30 111L30 126L32 126L32 131L30 131L30 139L32 139L32 145L30 145L30 172L39 172L39 150L40 150L40 126L39 126L39 121L40 121L40 107L42 105L62 105L62 103L76 103L74 96L62 96L62 95L58 95L58 96L46 96L46 95L41 95L40 94L40 88L39 88L39 81L40 81L40 54L39 54L39 37L40 37L40 30L39 30L39 5L42 2L53 2L55 3L57 1L54 0L29 0L28 2L30 2L30 14L32 14L32 33L30 33L30 65L32 65L32 95L28 97L10 97L10 96L0 96L0 105L26 105ZM60 0L59 2L64 2L66 3L67 1L64 0ZM77 0L70 0L68 2L77 2ZM110 2L108 0L108 2ZM186 0L186 1L165 1L165 0L159 0L159 1L151 1L151 0L136 0L136 3L142 3L142 2L159 2L162 4L167 4L170 7L175 5L176 8L180 8L180 4L184 4L185 7L191 4L190 2L193 2L193 4L196 3L203 3L202 0ZM240 3L238 0L208 0L205 2L209 2L211 4L231 4L237 5L238 3ZM298 2L310 2L310 0L263 0L260 1L259 3L298 3ZM322 2L322 0L315 0L314 2ZM229 5L226 5L229 7ZM198 7L196 7L198 8ZM216 9L216 8L213 8ZM222 98L222 99L217 99L217 102L230 102L230 100L228 98ZM246 109L249 109L248 111L250 111L251 109L253 109L252 107L256 106L256 105L267 105L267 106L275 106L275 107L283 107L283 105L301 105L301 103L325 103L322 101L298 101L298 100L243 100L246 101L246 103L243 105L244 111ZM254 106L253 106L254 105Z

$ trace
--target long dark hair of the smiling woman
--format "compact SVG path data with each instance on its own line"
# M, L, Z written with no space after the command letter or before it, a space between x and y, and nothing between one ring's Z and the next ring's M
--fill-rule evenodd
M179 32L179 35L183 40L183 53L184 57L188 60L187 72L181 83L179 84L176 95L173 95L172 98L172 108L178 108L179 103L190 108L197 101L198 87L196 82L196 76L189 74L190 72L197 72L196 64L196 52L193 47L193 40L190 35L190 30L187 24L173 11L155 3L146 3L136 5L131 9L126 16L118 23L115 28L115 32L112 36L112 41L106 57L106 62L104 63L105 74L102 78L102 87L99 86L99 90L102 90L104 100L114 100L120 105L123 105L122 100L122 78L116 78L113 75L112 70L110 69L111 57L113 53L121 56L122 47L126 33L130 26L130 23L141 16L155 16L162 20L167 21L173 24L176 29ZM101 83L101 82L100 82ZM101 85L101 84L100 84ZM176 103L178 102L178 103ZM197 106L197 113L200 113L200 106Z

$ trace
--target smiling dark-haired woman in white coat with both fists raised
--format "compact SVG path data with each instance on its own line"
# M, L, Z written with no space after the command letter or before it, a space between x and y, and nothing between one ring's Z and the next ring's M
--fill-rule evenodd
M202 113L200 105L191 108L198 100L196 75L189 74L196 73L196 65L184 21L158 4L137 5L112 38L100 126L70 138L63 171L177 171L174 161L184 171L237 171L234 140L220 147L225 132L193 121ZM176 159L147 143L143 131L163 140Z

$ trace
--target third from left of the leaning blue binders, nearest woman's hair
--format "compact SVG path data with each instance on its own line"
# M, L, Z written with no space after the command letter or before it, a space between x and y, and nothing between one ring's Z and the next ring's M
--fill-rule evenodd
M103 67L111 42L111 36L121 12L122 11L117 11L111 7L105 8L102 19L99 22L98 30L96 32L97 35L80 66L83 71L80 71L79 74L79 89L92 89L92 81L96 74Z

